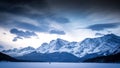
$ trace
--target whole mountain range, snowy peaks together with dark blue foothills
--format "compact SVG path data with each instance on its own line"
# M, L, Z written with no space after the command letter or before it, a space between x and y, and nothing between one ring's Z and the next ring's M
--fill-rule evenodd
M120 36L107 34L97 38L86 38L81 42L56 39L43 43L38 48L25 47L3 50L2 53L16 59L46 62L83 62L102 56L120 53Z

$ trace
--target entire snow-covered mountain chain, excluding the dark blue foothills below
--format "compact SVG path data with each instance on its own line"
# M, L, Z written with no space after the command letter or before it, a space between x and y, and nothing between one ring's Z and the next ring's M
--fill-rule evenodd
M11 56L23 56L31 52L40 54L66 52L79 58L117 54L120 53L120 37L114 34L107 34L97 38L86 38L82 42L68 42L58 38L50 41L50 43L43 43L37 49L26 47L3 51L3 53Z

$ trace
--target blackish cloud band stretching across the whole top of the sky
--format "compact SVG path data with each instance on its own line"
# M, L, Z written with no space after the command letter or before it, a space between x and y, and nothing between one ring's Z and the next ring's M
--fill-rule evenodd
M82 13L90 9L119 12L119 3L119 0L0 0L0 11L22 15L36 10L46 15L57 10L61 10L61 13Z

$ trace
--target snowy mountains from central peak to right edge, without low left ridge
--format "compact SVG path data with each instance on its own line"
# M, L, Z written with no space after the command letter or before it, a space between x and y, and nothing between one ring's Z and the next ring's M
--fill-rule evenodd
M43 48L44 46L46 47ZM82 42L68 42L57 39L47 45L41 45L38 50L40 53L68 52L77 57L84 57L93 53L109 55L120 52L120 37L108 34L98 38L86 38Z

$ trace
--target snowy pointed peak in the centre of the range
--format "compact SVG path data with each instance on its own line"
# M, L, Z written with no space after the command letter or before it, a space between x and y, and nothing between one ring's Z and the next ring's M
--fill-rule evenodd
M62 40L62 39L56 39L50 41L50 43L43 43L39 48L37 48L37 52L40 53L53 53L53 52L59 52L59 50L64 46L67 45L69 42Z

